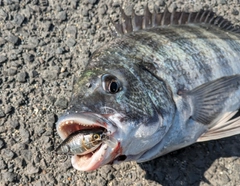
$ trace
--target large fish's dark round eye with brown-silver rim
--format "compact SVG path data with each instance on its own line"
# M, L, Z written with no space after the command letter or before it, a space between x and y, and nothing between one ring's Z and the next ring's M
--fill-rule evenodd
M115 94L122 89L121 82L113 75L104 74L102 76L103 89L111 94Z

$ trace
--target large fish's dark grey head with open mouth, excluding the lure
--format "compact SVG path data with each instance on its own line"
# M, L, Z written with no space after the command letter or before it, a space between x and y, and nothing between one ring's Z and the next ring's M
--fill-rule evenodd
M108 138L94 152L72 157L77 170L144 159L164 131L163 117L138 77L123 66L87 68L74 81L70 107L56 127L62 139L71 133L104 128Z

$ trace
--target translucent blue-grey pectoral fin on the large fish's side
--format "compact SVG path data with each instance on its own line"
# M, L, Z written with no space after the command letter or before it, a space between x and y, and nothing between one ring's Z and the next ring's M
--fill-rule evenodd
M205 83L191 91L179 91L192 105L191 117L204 125L214 126L223 113L225 101L239 90L240 75L227 76Z

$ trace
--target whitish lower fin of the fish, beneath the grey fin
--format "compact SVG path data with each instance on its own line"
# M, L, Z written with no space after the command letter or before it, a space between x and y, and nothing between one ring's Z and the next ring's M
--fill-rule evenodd
M240 116L238 114L236 118L232 119L235 114L237 114L237 111L226 113L215 126L202 134L197 139L197 142L216 140L240 134Z

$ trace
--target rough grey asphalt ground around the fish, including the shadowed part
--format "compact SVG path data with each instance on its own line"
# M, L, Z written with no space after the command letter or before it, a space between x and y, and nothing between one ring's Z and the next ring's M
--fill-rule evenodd
M124 2L139 14L147 0ZM212 9L239 24L235 0L154 0L150 9ZM226 185L240 183L240 136L199 143L147 163L89 173L54 154L55 122L67 108L74 75L112 39L120 0L0 0L0 185Z

